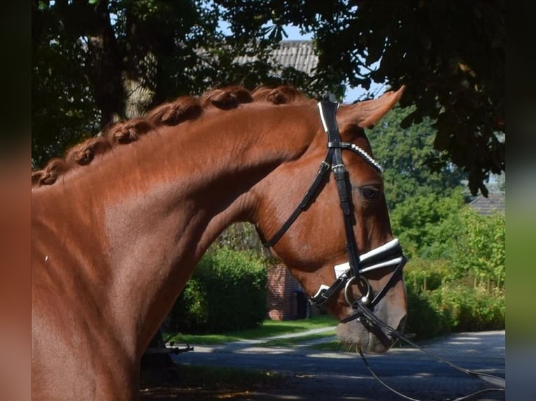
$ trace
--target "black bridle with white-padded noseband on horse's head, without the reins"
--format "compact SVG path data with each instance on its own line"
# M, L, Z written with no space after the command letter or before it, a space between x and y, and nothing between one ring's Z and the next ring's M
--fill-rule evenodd
M402 253L402 247L400 247L397 239L391 240L390 242L381 245L381 247L374 248L366 254L359 254L358 244L353 233L355 215L353 213L353 203L351 198L351 184L348 177L348 171L342 160L342 151L351 150L355 154L358 154L362 159L367 161L370 166L378 170L379 173L382 173L382 169L379 163L377 163L372 156L367 154L365 150L358 147L358 145L341 141L341 134L339 133L337 120L335 119L338 108L339 103L330 101L318 102L320 119L322 119L324 131L327 134L327 152L325 158L322 163L320 163L318 173L316 174L313 183L304 194L302 201L296 207L294 212L292 212L287 221L285 221L283 226L281 226L279 231L269 241L265 242L264 245L265 247L273 247L278 242L288 228L292 226L292 223L294 223L299 214L309 207L313 198L321 191L320 187L323 182L325 182L325 178L329 175L329 171L331 170L335 182L337 183L337 192L339 193L339 201L343 214L348 262L334 266L336 279L333 284L330 286L322 284L317 293L309 298L309 302L315 306L323 305L333 296L337 295L339 291L344 289L346 302L348 302L348 305L352 306L356 311L354 315L342 320L343 323L346 323L346 321L358 319L361 316L360 309L357 305L354 305L355 302L360 302L361 305L372 308L379 302L379 300L381 300L381 298L383 298L390 286L395 282L398 273L402 272L402 268L406 263L406 258ZM372 287L364 274L372 270L390 266L396 267L391 273L388 282L386 282L380 291L373 294ZM353 300L351 292L352 284L357 284L363 294L360 300ZM372 298L372 296L374 296L374 298Z

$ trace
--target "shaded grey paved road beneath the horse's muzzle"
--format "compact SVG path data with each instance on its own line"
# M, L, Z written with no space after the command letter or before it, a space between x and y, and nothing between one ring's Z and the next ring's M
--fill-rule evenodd
M174 356L176 363L269 370L288 374L288 381L244 400L403 400L381 386L355 353L326 352L302 344L292 348L260 347L235 342ZM421 343L461 367L505 377L505 331L457 333ZM397 391L419 400L446 400L491 387L453 370L422 351L397 347L367 356L369 364ZM470 400L504 400L504 392L487 392Z

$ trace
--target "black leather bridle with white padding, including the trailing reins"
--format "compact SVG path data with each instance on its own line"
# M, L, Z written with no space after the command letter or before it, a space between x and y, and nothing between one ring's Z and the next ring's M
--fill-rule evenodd
M320 168L316 177L314 178L311 186L305 192L302 201L297 205L294 212L290 214L290 217L285 221L283 226L277 231L270 240L264 242L265 247L273 247L276 245L278 240L288 231L288 228L292 226L294 221L297 219L299 214L306 210L313 198L321 191L323 183L327 179L329 172L331 170L335 182L337 184L337 192L339 194L340 206L344 219L344 230L346 233L346 253L348 254L348 262L342 263L341 265L334 266L335 270L335 281L330 285L321 285L317 293L309 298L309 302L313 306L324 305L328 300L336 296L340 291L344 289L344 297L348 305L350 305L355 312L351 316L346 317L341 320L341 323L347 323L348 321L354 319L363 319L372 323L376 327L383 328L391 335L397 337L398 340L402 340L411 344L413 347L420 349L421 351L428 353L430 356L433 356L442 363L446 363L450 367L465 374L469 374L472 377L477 377L488 383L491 383L497 388L485 388L484 390L465 395L461 398L456 398L456 401L466 400L474 395L479 393L484 393L486 391L505 391L506 383L505 379L502 377L494 376L493 374L486 374L481 372L476 372L474 370L468 370L463 367L458 367L454 363L441 358L440 356L435 355L434 353L423 349L423 347L418 346L414 342L411 342L406 336L399 333L394 328L388 326L380 319L374 315L372 308L376 305L383 296L387 293L390 286L395 282L395 279L399 274L402 273L402 268L404 267L407 259L405 258L402 247L398 243L397 239L391 240L390 242L381 245L367 252L366 254L359 254L358 245L355 240L355 235L353 233L353 226L355 225L355 216L353 213L353 203L351 198L351 184L348 178L348 171L344 166L344 161L342 160L342 151L351 150L355 154L359 154L362 159L367 161L370 166L375 168L382 173L383 170L379 163L377 163L372 156L367 154L365 150L358 147L353 143L346 143L341 141L341 134L339 133L339 128L337 126L337 120L335 115L337 114L337 109L339 108L339 103L331 101L322 101L318 102L318 110L320 112L320 118L322 119L323 128L327 134L327 152L326 155L320 163ZM370 286L367 278L363 275L366 272L385 268L388 266L396 266L393 272L391 273L388 282L378 291L372 300L370 299L372 294L372 287ZM363 295L359 300L353 300L351 296L351 285L355 282L358 285ZM402 398L407 400L418 401L415 398L408 397L402 393L399 393L395 389L391 388L383 381L373 370L372 367L367 363L367 359L363 355L362 351L359 350L360 356L365 363L368 370L371 372L372 376L376 378L383 386L386 386L393 393L400 395Z

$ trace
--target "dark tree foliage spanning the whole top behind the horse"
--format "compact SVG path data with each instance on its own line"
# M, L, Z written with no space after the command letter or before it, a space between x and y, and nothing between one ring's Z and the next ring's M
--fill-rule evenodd
M402 128L429 117L434 147L472 194L505 170L505 1L32 0L32 157L170 97L218 85L406 85ZM224 34L220 25L229 27ZM276 73L285 26L311 33L312 77ZM256 61L238 64L238 55ZM339 93L340 94L340 93ZM96 116L100 121L96 122ZM75 128L78 130L75 131Z

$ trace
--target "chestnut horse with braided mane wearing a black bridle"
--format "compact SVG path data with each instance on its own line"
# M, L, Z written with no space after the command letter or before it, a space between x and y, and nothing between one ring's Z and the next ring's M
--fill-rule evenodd
M34 171L33 399L136 400L144 350L238 221L341 321L341 342L392 347L355 304L404 326L405 259L365 136L403 90L353 105L292 87L181 96Z

